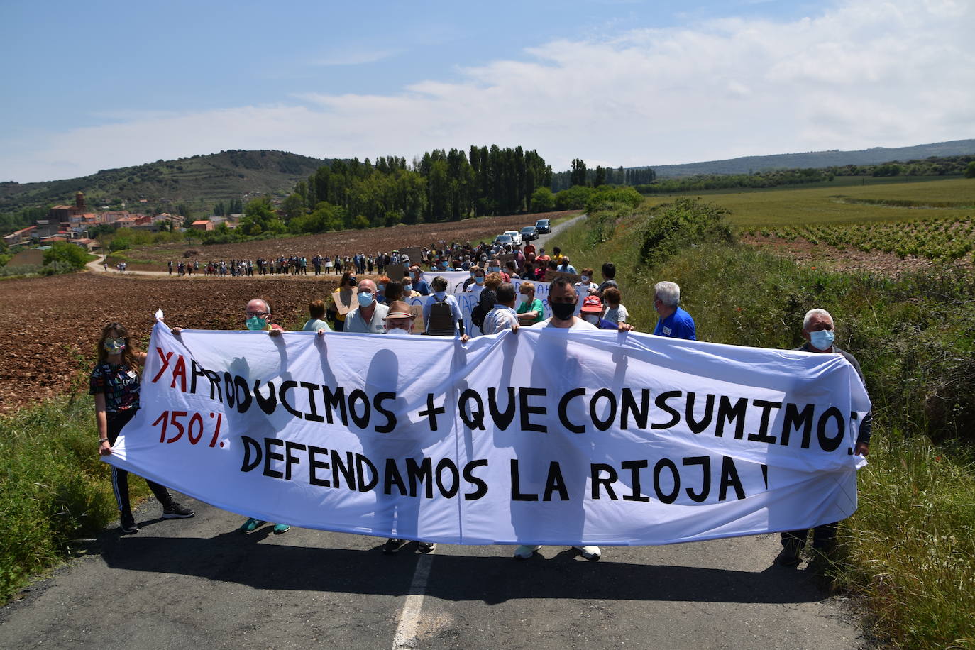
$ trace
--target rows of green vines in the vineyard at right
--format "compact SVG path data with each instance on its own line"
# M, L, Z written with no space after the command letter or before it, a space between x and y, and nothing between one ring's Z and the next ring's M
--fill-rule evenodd
M955 261L975 248L975 217L924 217L910 221L850 225L803 225L743 229L749 236L775 237L793 242L802 238L835 249L882 250L937 261Z

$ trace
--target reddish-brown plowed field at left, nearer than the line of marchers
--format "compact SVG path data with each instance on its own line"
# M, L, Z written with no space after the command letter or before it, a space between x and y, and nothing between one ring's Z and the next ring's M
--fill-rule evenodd
M286 329L304 323L308 302L325 299L332 280L302 278L124 278L77 274L0 283L0 413L70 393L87 392L101 328L126 325L144 349L162 309L170 326L243 328L254 297L271 303Z

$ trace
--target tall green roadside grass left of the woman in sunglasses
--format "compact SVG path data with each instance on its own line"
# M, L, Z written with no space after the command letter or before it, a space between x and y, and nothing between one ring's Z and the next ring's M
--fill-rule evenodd
M94 413L86 396L0 418L0 600L118 516ZM134 496L147 493L131 483Z

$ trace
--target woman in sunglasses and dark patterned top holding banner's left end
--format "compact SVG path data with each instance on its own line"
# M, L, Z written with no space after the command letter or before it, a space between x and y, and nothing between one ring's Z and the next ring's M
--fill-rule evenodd
M89 393L95 396L95 422L98 426L98 453L110 456L112 445L122 428L138 410L140 369L146 354L136 350L129 339L129 331L119 323L109 323L101 330L98 339L98 363L92 370ZM176 519L193 516L189 508L183 508L170 491L154 481L146 479L149 489L163 505L163 518ZM112 490L119 510L122 532L134 535L138 532L129 502L129 473L112 466Z

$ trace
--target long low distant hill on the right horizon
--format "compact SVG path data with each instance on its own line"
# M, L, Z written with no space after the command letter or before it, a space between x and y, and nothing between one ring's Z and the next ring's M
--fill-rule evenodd
M911 147L873 147L858 151L808 151L774 156L744 156L685 165L651 165L658 178L693 176L702 173L752 173L766 170L841 167L843 165L878 165L908 161L928 156L963 156L975 154L975 139L917 144Z

